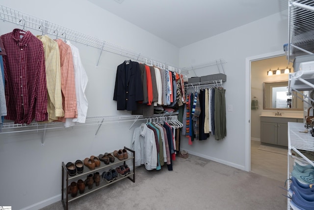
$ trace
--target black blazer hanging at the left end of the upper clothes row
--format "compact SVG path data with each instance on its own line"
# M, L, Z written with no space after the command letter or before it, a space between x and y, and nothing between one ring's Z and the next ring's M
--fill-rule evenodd
M117 110L136 110L136 101L142 101L143 85L138 62L126 60L117 67L113 100Z

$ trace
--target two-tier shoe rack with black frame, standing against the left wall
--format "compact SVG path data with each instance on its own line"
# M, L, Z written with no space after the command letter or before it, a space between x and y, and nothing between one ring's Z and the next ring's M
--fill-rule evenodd
M86 166L84 166L84 170L82 173L80 174L76 174L75 176L69 176L69 171L68 169L66 168L65 166L65 163L62 162L62 199L61 199L61 202L62 202L62 205L64 207L65 210L68 210L68 206L69 206L69 203L71 201L74 201L76 199L79 199L89 193L92 193L94 191L97 191L99 189L102 189L110 184L113 184L117 181L120 181L120 180L124 180L125 178L128 178L129 180L135 182L135 162L134 162L134 159L135 159L135 151L134 150L131 150L127 147L124 147L124 149L128 150L128 159L124 159L124 160L119 160L117 159L116 157L114 158L114 162L113 163L109 163L108 165L106 165L104 162L101 161L101 165L100 167L97 167L95 168L94 170L90 170L89 168L87 168ZM112 153L111 153L112 154ZM113 155L113 154L112 154ZM105 179L102 178L102 173L104 171L108 171L110 168L115 168L117 167L118 165L120 164L126 164L126 162L130 162L132 161L132 167L133 169L131 169L131 173L126 175L126 176L118 176L118 179L117 180L113 180L111 182L106 182ZM87 175L89 174L94 174L95 172L99 172L100 175L101 175L101 181L100 181L100 184L99 186L96 186L95 184L93 184L93 187L92 189L88 189L88 187L86 186L85 187L85 190L84 190L84 193L82 194L79 194L79 191L78 191L78 194L76 197L71 197L71 195L69 194L69 188L68 186L70 185L70 183L72 181L75 181L77 182L79 179L81 180L85 180Z

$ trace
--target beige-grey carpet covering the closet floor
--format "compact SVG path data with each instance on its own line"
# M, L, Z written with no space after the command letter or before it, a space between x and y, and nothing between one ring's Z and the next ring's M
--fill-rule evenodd
M70 210L287 210L284 181L201 157L177 157L173 171L136 168L125 179L69 203ZM43 210L62 210L61 201Z

